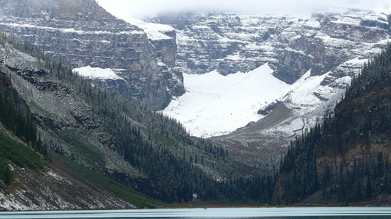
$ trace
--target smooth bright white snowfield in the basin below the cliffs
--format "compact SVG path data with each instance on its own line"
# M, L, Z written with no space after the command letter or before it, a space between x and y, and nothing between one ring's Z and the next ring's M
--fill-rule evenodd
M184 74L186 93L163 113L177 118L194 136L217 136L261 118L259 106L280 97L289 87L264 64L253 71L223 76L217 71Z

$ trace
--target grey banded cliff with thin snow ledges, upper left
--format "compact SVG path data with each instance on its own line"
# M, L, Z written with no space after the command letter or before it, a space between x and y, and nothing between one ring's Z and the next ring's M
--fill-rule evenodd
M72 68L93 65L119 69L118 76L128 83L114 87L154 109L169 103L156 55L172 65L174 38L152 41L142 29L115 18L90 0L7 0L1 7L5 16L0 19L0 28L6 33L43 46L46 53Z

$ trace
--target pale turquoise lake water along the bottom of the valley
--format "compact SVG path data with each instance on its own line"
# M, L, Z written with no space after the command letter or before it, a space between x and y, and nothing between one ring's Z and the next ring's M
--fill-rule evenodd
M391 219L391 207L298 207L298 208L192 208L152 210L92 210L0 212L0 219L116 218L116 219Z

